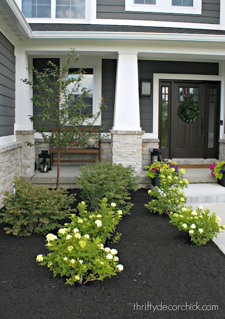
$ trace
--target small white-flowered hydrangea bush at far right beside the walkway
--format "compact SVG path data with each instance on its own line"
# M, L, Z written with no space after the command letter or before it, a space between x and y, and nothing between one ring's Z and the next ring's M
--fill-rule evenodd
M179 230L188 231L191 241L197 245L205 245L225 229L225 224L220 224L221 218L215 212L210 214L209 209L201 205L196 210L192 210L191 205L182 207L179 213L171 212L169 216L170 223Z

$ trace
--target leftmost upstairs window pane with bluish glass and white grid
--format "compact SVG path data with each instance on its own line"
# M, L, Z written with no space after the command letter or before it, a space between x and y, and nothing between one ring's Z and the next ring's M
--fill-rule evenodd
M22 0L25 18L51 18L51 0Z

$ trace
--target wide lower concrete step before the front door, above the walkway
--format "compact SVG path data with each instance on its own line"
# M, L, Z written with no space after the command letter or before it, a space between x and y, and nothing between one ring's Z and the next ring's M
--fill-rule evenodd
M189 184L188 188L184 189L184 194L187 196L187 204L225 203L225 187L218 183Z

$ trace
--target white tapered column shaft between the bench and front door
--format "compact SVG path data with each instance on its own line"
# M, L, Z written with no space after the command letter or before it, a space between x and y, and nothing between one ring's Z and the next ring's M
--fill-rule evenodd
M138 53L119 52L113 130L141 131Z

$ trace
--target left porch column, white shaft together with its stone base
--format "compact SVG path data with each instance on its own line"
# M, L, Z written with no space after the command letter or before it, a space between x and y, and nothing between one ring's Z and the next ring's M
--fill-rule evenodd
M16 141L22 143L21 147L21 175L34 174L35 149L27 146L26 142L34 143L33 123L29 115L33 114L30 102L30 86L21 81L28 79L28 60L25 52L15 52L15 124Z

